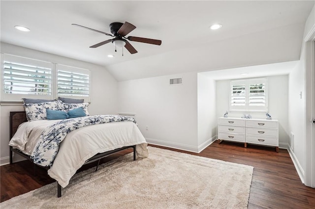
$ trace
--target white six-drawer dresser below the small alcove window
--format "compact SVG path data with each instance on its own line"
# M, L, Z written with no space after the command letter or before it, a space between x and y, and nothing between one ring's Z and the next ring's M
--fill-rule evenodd
M275 119L245 119L221 117L218 124L218 139L276 147L279 152L279 128Z

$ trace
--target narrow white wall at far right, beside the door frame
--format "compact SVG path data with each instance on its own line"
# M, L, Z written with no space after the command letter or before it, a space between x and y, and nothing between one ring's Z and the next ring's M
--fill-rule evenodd
M301 178L301 181L305 182L305 171L306 166L312 166L306 164L306 158L312 158L311 152L306 156L306 101L305 96L306 88L311 88L311 86L306 86L306 55L305 55L305 38L309 35L311 31L315 28L315 6L313 7L304 28L304 35L302 41L300 60L294 70L289 75L289 108L288 108L288 124L289 130L294 133L294 147L290 150L292 160ZM302 92L302 99L300 99L299 94ZM308 139L309 140L309 139ZM313 143L314 144L314 143ZM308 148L308 149L314 149ZM313 150L314 152L314 150ZM312 161L312 160L309 160ZM310 176L310 173L307 175ZM309 185L310 186L310 185Z

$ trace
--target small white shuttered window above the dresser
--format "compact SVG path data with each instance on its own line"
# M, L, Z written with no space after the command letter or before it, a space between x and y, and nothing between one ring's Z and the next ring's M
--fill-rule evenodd
M267 78L231 80L230 110L268 111Z

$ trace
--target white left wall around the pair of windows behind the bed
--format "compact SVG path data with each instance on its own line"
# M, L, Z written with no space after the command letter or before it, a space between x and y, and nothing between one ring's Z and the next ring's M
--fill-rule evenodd
M89 105L90 114L117 114L118 82L107 72L104 67L82 62L80 60L58 56L55 54L39 52L15 45L10 45L7 43L1 43L1 52L73 67L90 69L92 81L91 104ZM7 106L7 104L4 106L2 103L0 106L0 164L8 162L9 112L23 110L22 102L20 104L9 104L9 106Z

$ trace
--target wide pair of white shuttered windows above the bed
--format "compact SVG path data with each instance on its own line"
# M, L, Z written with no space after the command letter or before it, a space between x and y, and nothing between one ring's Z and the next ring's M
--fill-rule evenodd
M2 53L1 63L1 101L58 97L90 101L90 70Z

